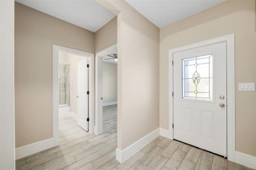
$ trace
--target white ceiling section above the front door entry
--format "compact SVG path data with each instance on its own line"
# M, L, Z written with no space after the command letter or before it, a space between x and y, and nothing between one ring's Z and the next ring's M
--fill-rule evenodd
M225 0L125 0L157 27L163 28Z

